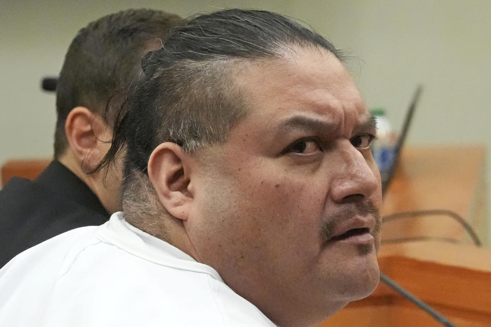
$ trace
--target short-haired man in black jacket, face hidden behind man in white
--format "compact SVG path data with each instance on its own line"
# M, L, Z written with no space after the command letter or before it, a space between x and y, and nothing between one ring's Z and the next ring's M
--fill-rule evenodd
M141 58L181 23L175 14L130 9L78 32L56 86L54 160L34 181L12 178L0 191L0 267L31 246L102 224L120 210L120 168L100 170L98 164Z

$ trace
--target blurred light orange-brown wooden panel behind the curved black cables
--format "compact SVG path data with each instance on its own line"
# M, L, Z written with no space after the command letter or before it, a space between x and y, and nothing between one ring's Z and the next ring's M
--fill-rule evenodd
M488 242L485 150L483 147L412 147L384 198L384 216L427 209L447 209L474 227ZM471 244L462 225L449 216L421 216L384 223L383 241L427 237Z

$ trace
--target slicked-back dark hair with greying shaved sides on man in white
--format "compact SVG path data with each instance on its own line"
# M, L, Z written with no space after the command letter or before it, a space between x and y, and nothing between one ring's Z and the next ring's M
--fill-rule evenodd
M126 150L125 218L144 227L149 225L145 218L156 222L165 212L155 194L148 194L154 192L147 164L155 147L173 142L192 152L219 144L247 115L247 94L234 84L240 67L306 48L342 59L325 38L292 19L268 11L231 9L188 20L172 31L163 49L148 53L142 60L144 73L118 116L113 144L103 161L107 165L119 150ZM146 231L162 237L159 228Z

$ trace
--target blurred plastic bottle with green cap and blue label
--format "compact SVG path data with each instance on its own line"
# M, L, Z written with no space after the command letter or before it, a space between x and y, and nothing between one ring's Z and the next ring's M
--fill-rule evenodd
M384 108L371 110L377 121L376 140L372 146L372 154L380 170L382 182L389 177L395 157L396 137L392 126L387 119Z

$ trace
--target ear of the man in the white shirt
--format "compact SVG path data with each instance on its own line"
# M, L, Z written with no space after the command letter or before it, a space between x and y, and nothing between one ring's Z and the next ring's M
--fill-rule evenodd
M169 214L187 220L193 195L190 192L189 155L175 143L165 142L148 159L148 176Z

